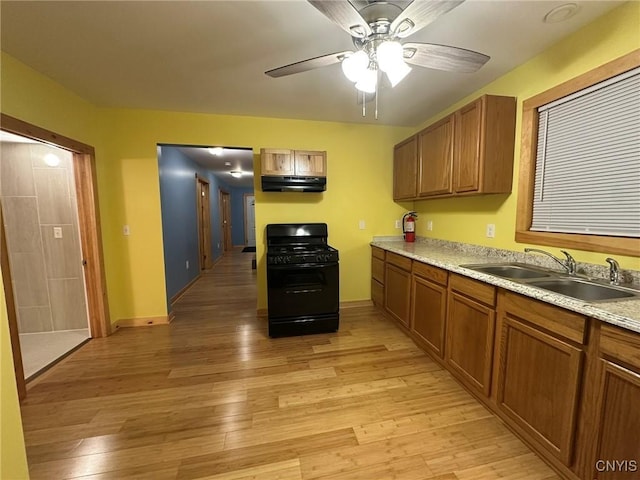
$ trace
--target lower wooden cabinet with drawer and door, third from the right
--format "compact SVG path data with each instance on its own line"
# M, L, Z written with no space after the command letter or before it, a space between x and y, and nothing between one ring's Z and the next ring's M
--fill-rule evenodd
M495 287L451 275L445 359L460 380L486 397L491 391L494 306Z

